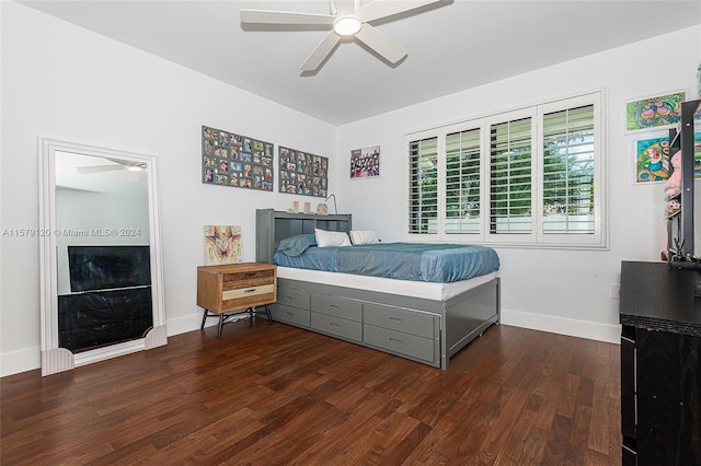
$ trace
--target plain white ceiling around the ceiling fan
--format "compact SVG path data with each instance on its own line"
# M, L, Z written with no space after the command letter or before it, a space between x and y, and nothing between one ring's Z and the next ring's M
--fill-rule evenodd
M22 3L332 125L701 24L698 0L444 0L371 23L409 50L399 65L350 42L302 75L326 30L242 26L239 10L329 14L327 0Z

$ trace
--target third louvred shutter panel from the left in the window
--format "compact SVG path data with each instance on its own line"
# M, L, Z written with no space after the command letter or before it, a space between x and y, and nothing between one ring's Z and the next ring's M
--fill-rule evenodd
M490 127L490 233L531 233L531 118Z

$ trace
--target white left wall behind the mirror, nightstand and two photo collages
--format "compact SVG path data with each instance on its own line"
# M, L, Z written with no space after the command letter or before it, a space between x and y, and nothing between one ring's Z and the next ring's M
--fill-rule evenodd
M154 154L168 333L199 328L203 225L241 225L244 260L254 260L256 208L319 200L203 185L200 126L329 156L332 170L336 128L14 2L0 2L0 229L38 228L39 136ZM36 237L2 236L0 246L8 375L39 366L39 248Z

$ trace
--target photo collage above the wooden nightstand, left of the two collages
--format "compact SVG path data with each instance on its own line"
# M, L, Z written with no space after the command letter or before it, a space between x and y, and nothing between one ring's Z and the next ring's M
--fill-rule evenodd
M202 127L202 182L273 190L274 145L248 136Z

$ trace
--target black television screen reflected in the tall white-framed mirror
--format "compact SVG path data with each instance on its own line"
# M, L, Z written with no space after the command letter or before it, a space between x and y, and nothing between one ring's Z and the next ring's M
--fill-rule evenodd
M68 246L71 292L151 284L149 246Z

